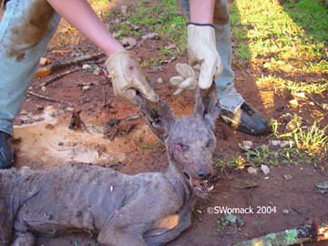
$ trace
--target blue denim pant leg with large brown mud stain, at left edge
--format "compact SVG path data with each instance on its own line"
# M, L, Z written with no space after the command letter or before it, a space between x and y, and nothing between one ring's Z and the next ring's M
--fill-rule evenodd
M46 0L11 0L0 23L0 131L13 135L27 88L60 16Z

